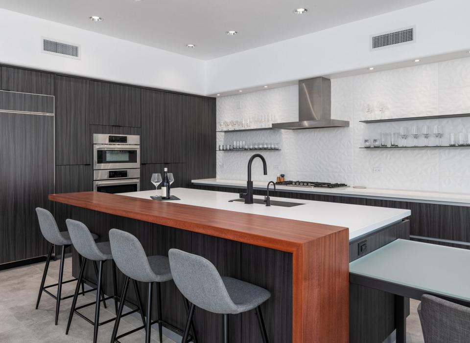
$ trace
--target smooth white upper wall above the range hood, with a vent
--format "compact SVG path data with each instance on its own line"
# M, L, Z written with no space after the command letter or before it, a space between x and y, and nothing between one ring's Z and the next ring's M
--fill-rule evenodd
M207 94L469 50L470 1L434 0L207 63ZM369 36L416 25L417 42L371 52Z

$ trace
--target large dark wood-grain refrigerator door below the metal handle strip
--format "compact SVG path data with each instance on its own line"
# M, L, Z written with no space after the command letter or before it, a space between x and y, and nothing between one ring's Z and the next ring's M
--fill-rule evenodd
M36 207L53 212L54 118L0 114L0 263L47 254Z

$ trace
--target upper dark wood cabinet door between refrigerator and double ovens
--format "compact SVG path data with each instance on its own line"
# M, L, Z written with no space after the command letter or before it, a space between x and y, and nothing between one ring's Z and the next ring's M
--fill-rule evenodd
M56 165L90 164L90 81L56 77Z

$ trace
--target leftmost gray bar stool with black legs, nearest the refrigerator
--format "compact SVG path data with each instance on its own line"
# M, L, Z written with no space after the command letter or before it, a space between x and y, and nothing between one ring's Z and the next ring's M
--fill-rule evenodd
M49 252L47 253L46 265L44 266L43 278L41 280L41 286L39 287L39 294L38 294L38 300L36 302L36 309L38 309L39 307L39 302L41 300L41 295L43 294L43 292L47 293L52 298L54 298L56 300L55 325L57 325L57 321L59 319L60 300L65 300L65 299L69 299L73 297L73 295L70 295L67 297L61 297L62 285L64 283L69 283L69 282L77 280L77 279L71 279L71 280L63 281L65 249L69 247L72 244L72 242L70 239L70 235L67 231L64 231L64 232L59 231L57 222L55 221L54 216L49 211L47 211L46 209L37 207L36 214L38 215L39 228L41 229L41 233L43 234L44 238L50 243ZM94 234L92 234L92 237L93 239L98 238L98 236ZM46 282L46 277L47 277L47 270L49 269L50 257L52 255L52 249L54 248L54 245L62 246L62 253L60 257L60 267L59 267L59 280L58 280L59 282L48 285L48 286L44 286L44 283ZM80 265L82 264L81 257L79 259L79 263ZM98 276L97 273L96 273L96 276ZM81 292L82 295L85 295L85 293L92 292L95 290L95 289L90 289L90 290L85 291L83 282L78 282L77 286L80 284L82 286L82 292ZM55 287L55 286L57 286L57 295L53 295L47 290L47 288Z

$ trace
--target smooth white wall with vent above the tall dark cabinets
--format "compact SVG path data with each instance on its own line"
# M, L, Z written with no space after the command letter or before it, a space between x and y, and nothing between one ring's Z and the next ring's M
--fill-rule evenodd
M205 94L205 62L0 9L0 63ZM41 53L41 36L81 45L81 60Z

